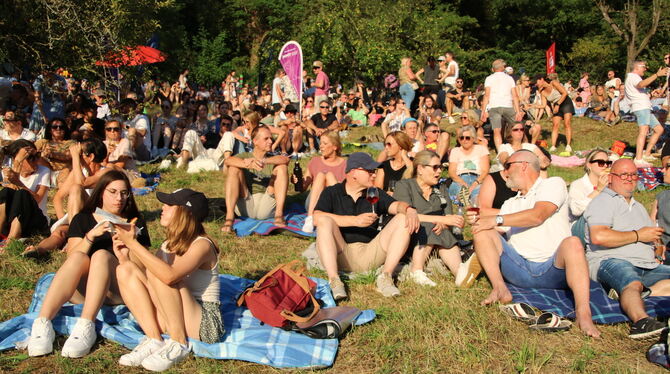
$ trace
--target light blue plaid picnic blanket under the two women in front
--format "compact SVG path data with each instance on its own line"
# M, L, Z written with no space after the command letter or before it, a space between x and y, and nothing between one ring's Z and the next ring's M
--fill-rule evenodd
M54 273L46 274L37 282L27 314L0 323L0 351L25 346L53 276ZM338 339L312 339L296 332L261 325L247 308L237 307L235 303L237 296L254 281L227 274L219 275L219 279L226 334L222 342L215 344L191 340L196 356L250 361L277 368L323 368L333 364ZM323 306L335 306L328 282L317 278L312 280L317 283L316 298L323 301ZM56 332L68 335L77 321L74 316L80 315L81 308L82 305L65 304L53 320ZM375 316L373 310L364 310L355 324L370 322ZM103 306L97 316L96 331L98 335L128 349L135 347L144 336L125 305Z

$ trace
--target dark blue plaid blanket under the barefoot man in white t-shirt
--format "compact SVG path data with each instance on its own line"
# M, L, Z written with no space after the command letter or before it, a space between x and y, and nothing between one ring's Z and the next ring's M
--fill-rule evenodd
M507 284L515 303L526 303L545 312L553 312L561 317L575 318L575 302L570 290L542 288L521 288ZM670 316L670 297L649 297L644 300L647 313L651 317ZM629 321L623 314L618 301L607 297L603 287L591 281L591 313L593 322L613 324Z

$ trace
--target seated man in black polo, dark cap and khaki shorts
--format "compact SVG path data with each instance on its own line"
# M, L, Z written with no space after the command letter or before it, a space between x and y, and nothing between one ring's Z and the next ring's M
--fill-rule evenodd
M347 297L338 270L365 272L382 265L377 291L386 297L400 295L391 274L407 251L411 234L418 230L419 218L416 209L380 189L374 205L366 199L379 165L367 153L351 154L344 182L326 188L314 211L316 248L336 300ZM377 231L379 216L384 214L395 217Z

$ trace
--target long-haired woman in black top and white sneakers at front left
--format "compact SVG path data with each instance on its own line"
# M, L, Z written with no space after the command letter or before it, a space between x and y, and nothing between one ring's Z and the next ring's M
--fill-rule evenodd
M67 301L84 304L70 337L65 341L63 357L83 357L95 343L95 317L103 303L122 304L116 277L119 260L112 249L110 219L137 219L141 227L138 240L150 245L146 223L137 210L130 182L118 170L104 174L93 189L82 211L70 224L68 256L47 291L28 342L30 356L53 351L55 333L51 320ZM91 276L89 276L91 275Z

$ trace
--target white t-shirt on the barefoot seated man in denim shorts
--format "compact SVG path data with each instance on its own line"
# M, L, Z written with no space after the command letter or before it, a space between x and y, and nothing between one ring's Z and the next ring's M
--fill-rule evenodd
M571 235L565 181L560 177L537 178L525 195L518 193L500 208L501 215L517 213L532 209L540 201L550 202L558 209L539 226L509 227L507 231L507 241L517 253L533 262L547 261L563 239Z

